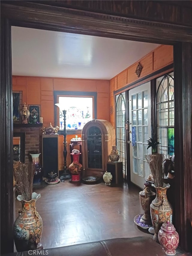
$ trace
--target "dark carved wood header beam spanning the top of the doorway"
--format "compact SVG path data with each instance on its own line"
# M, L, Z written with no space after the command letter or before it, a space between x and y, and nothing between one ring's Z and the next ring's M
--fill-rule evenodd
M129 37L129 40L147 42L150 38L150 41L162 44L165 41L169 44L182 40L192 41L190 26L53 7L35 2L1 2L3 16L11 19L15 26L25 24L26 27L39 29L122 39Z

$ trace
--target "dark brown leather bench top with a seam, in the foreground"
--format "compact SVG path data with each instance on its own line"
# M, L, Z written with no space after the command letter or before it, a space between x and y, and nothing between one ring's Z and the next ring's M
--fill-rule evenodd
M4 254L6 256L165 256L162 246L152 238L139 236L132 238L115 238L98 242L88 242L57 248L44 249L38 252L23 251Z

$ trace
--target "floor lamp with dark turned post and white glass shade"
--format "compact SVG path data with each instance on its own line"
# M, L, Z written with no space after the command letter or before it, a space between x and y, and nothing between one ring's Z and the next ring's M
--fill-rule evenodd
M63 150L63 156L64 156L64 170L63 173L61 174L61 176L59 177L59 179L63 182L63 181L69 181L71 178L71 175L69 174L68 170L67 170L67 131L66 131L66 112L67 110L64 109L63 105L60 103L56 103L55 104L57 107L59 107L59 109L63 112L63 120L64 120L64 129L63 129L63 136L64 136L64 141L63 141L63 145L64 145L64 150Z

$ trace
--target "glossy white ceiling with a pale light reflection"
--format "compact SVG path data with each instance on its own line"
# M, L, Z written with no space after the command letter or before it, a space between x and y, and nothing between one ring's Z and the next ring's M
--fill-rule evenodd
M159 44L12 26L12 74L110 80Z

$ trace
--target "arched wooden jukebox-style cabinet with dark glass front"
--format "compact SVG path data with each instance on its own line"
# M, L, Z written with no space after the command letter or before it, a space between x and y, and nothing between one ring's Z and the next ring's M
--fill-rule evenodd
M102 176L107 170L108 156L116 145L115 129L107 120L93 119L82 128L83 176Z

